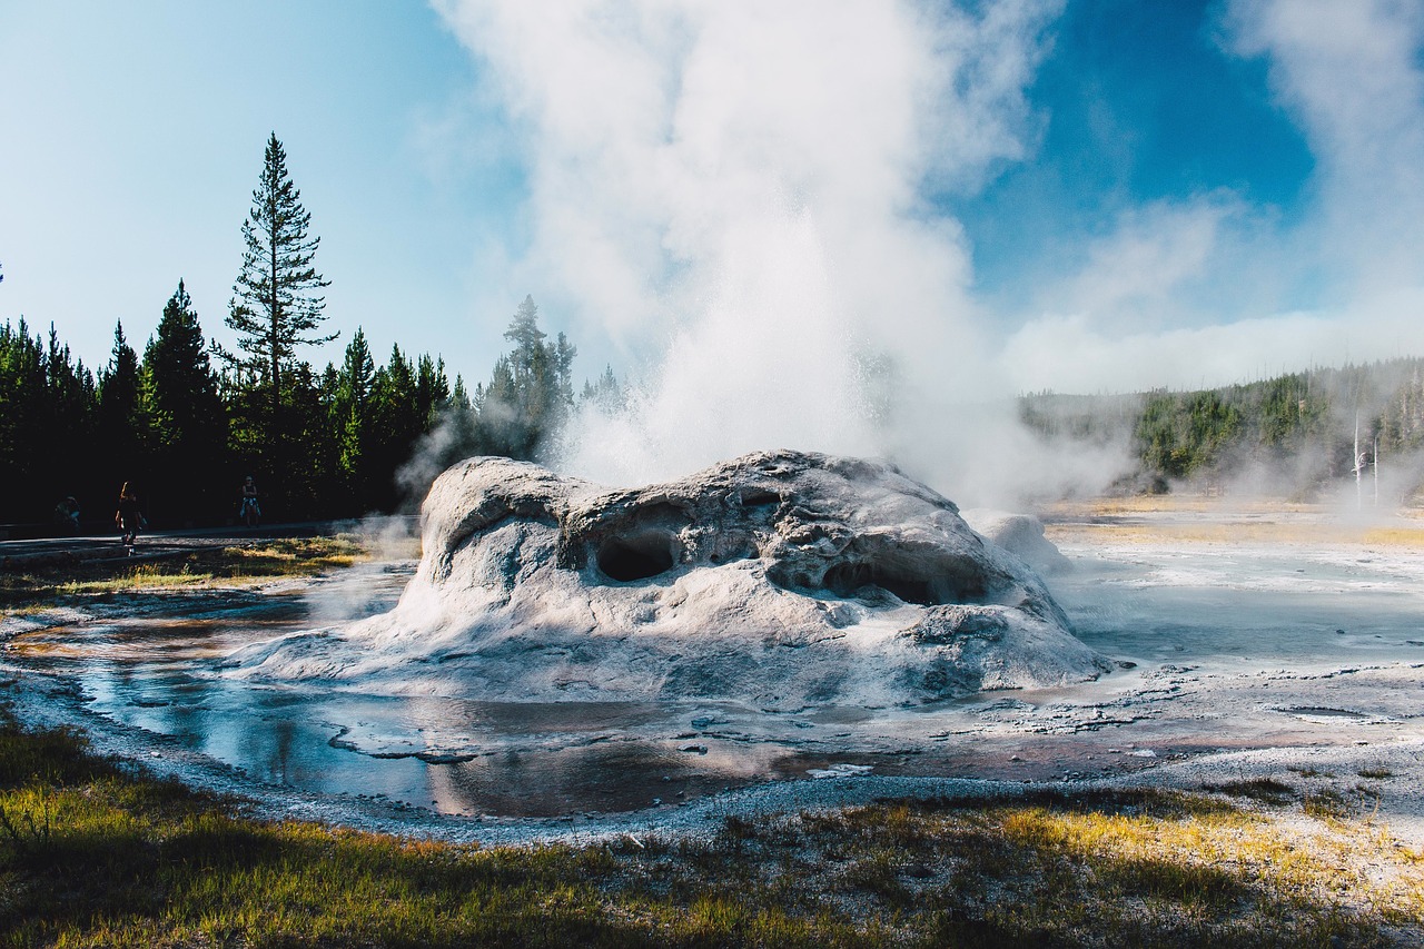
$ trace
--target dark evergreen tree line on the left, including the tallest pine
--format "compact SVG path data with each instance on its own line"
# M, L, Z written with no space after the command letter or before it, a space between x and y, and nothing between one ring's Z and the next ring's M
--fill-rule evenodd
M533 296L504 333L511 349L473 390L439 355L394 345L377 362L359 326L340 365L302 359L336 333L322 332L320 239L275 134L242 235L225 318L236 351L205 342L182 281L142 353L120 321L97 369L53 325L0 325L0 522L48 522L66 497L83 520L107 520L128 482L154 526L229 523L246 474L269 520L394 512L461 457L538 456L575 409L577 349L540 329ZM581 398L619 403L612 370Z

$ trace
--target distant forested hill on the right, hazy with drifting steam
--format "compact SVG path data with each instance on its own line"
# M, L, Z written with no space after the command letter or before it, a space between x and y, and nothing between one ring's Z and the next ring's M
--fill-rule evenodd
M1022 396L1018 408L1045 440L1129 446L1136 469L1118 482L1124 492L1250 482L1304 496L1353 479L1357 463L1373 480L1376 462L1396 494L1413 494L1424 482L1424 359L1196 392L1042 392Z

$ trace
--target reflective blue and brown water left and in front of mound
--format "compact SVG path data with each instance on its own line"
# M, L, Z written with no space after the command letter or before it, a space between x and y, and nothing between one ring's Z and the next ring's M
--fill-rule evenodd
M363 608L393 606L400 580L367 591ZM44 630L17 637L11 654L73 677L93 711L168 735L258 781L443 814L671 807L736 784L800 775L826 761L748 741L759 717L735 704L481 702L218 674L234 650L308 628L303 603L272 597L199 617ZM725 737L723 730L736 734Z

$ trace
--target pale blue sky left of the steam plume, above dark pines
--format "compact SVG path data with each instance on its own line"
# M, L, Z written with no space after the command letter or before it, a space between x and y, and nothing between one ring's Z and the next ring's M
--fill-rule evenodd
M497 127L480 151L444 148L486 107L427 7L6 1L0 88L0 319L53 321L87 365L115 319L141 346L179 278L224 336L269 131L343 339L365 323L384 351L470 358L501 342L486 336L506 315L474 309L474 248L517 231L518 167Z

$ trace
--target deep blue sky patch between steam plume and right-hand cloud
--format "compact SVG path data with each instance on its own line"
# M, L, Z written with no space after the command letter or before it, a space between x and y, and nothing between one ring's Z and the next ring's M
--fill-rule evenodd
M1071 271L1085 238L1151 201L1226 188L1300 214L1310 147L1273 101L1266 63L1223 51L1219 10L1205 0L1067 6L1028 91L1041 123L1034 160L1005 164L983 191L950 201L987 294L1030 305L1018 275ZM1219 299L1200 316L1233 309Z

